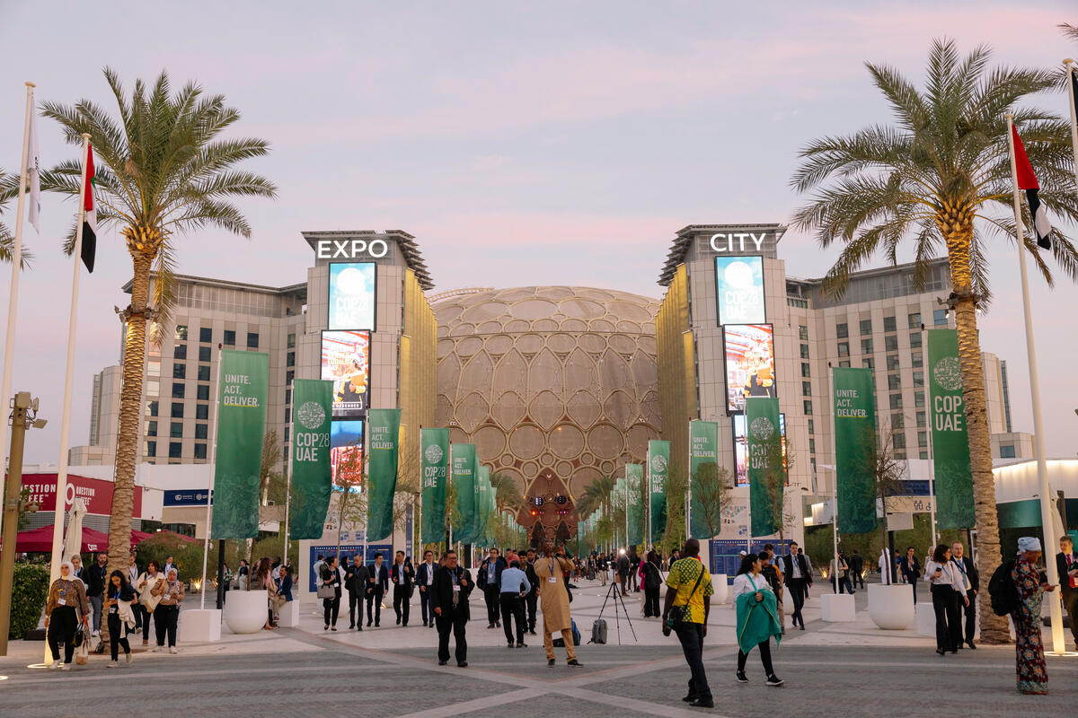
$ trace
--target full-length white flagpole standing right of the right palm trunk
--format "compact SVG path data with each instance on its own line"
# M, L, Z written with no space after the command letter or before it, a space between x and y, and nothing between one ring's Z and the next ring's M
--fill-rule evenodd
M1073 103L1072 103L1072 107ZM1025 349L1029 364L1029 394L1033 399L1033 438L1037 450L1037 478L1040 485L1040 524L1044 533L1044 549L1048 555L1054 551L1055 537L1052 536L1052 497L1049 495L1048 462L1045 457L1045 427L1040 418L1040 382L1037 378L1037 351L1033 343L1033 310L1029 306L1029 283L1025 271L1025 227L1022 224L1022 209L1018 198L1018 166L1014 158L1014 115L1007 113L1007 144L1010 150L1011 184L1014 194L1014 230L1018 239L1018 267L1022 278L1022 311L1025 318ZM1060 572L1055 562L1045 561L1048 568L1048 582L1060 585ZM1049 615L1052 619L1052 652L1063 654L1066 644L1063 639L1063 610L1059 595L1053 595L1049 602Z

